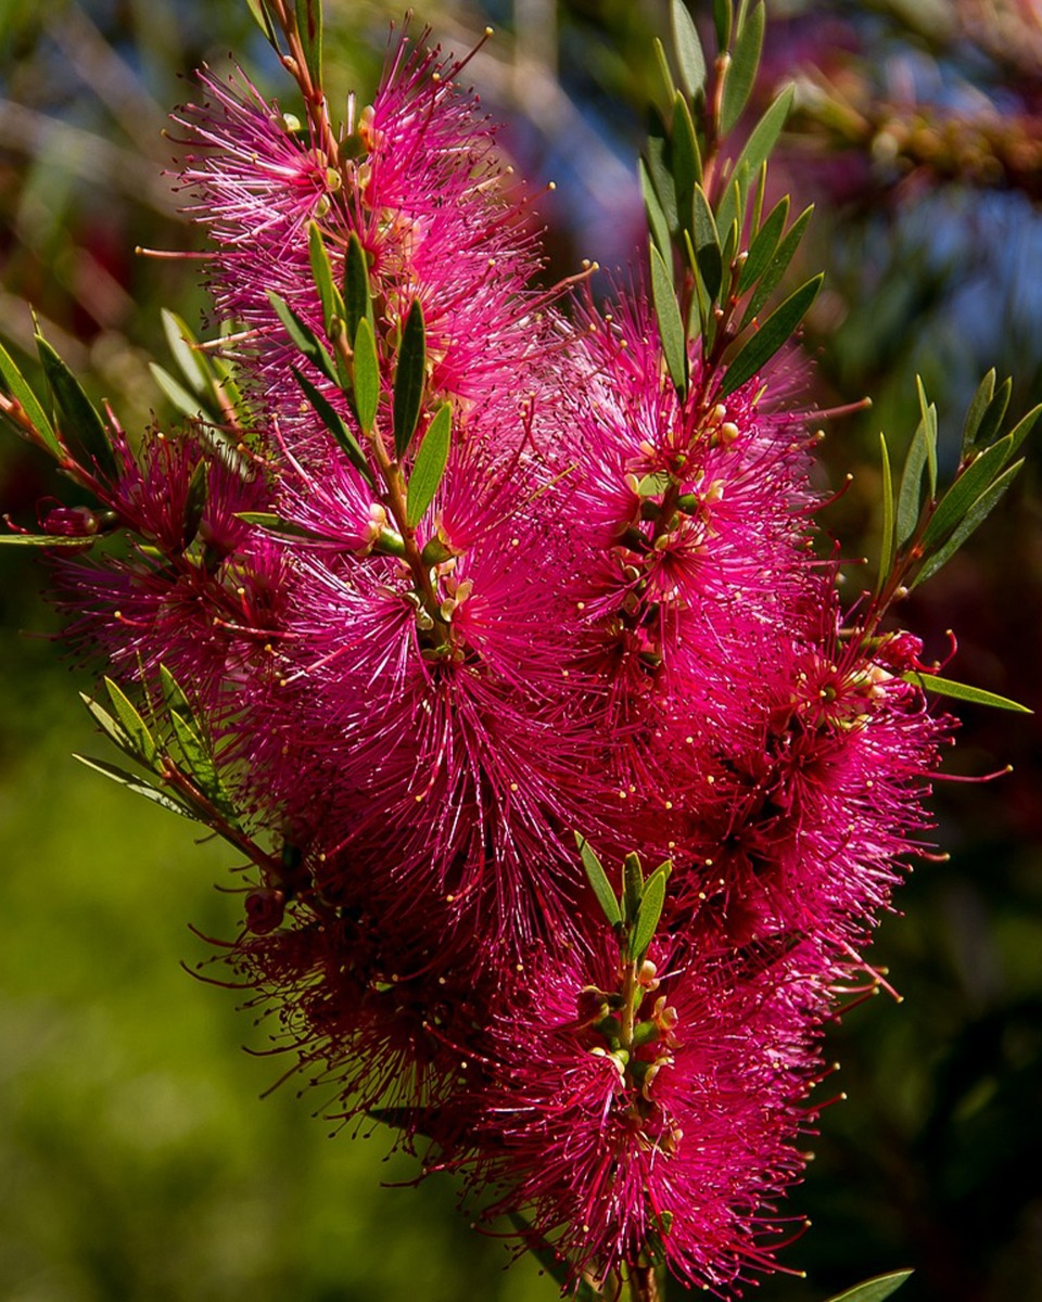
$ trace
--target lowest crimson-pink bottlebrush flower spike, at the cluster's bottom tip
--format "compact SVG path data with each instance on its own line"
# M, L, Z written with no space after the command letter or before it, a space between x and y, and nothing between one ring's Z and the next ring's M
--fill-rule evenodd
M802 1165L824 995L783 965L750 978L724 952L656 958L628 1030L613 939L526 973L466 1100L473 1184L496 1190L487 1219L522 1216L572 1284L664 1258L720 1293L768 1269L784 1237L775 1199Z

